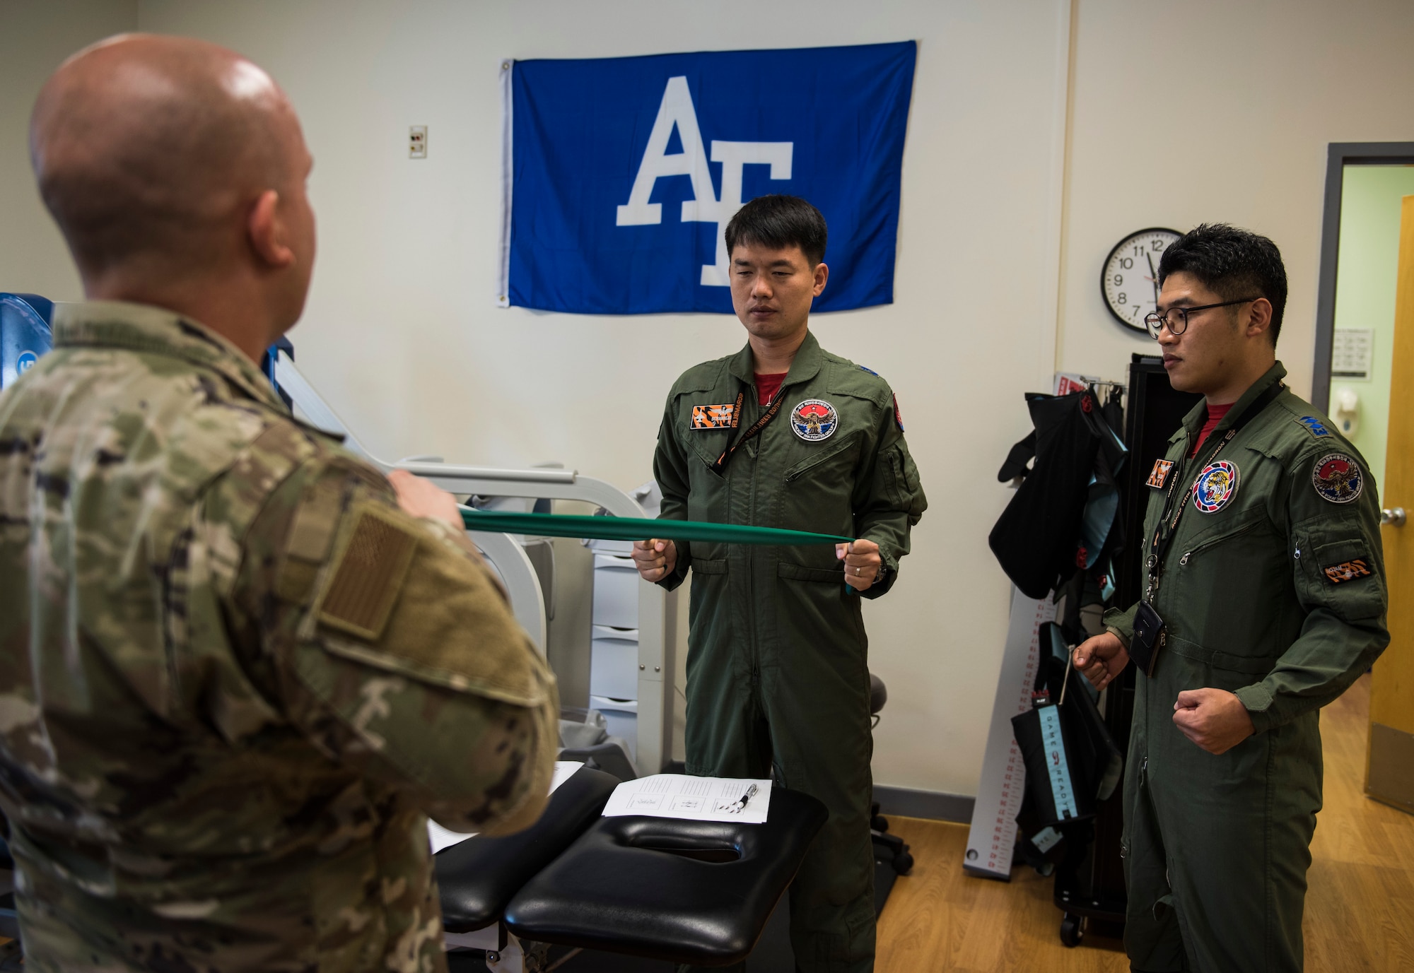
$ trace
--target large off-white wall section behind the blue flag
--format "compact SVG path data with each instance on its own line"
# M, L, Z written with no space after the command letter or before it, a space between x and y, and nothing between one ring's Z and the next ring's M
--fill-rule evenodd
M878 778L973 792L1007 611L986 543L1010 495L995 471L1027 431L1022 392L1045 388L1053 361L1062 3L908 3L861 17L846 0L769 11L741 0L143 0L140 23L230 45L290 92L315 157L321 247L291 338L370 448L560 460L621 486L650 475L673 379L745 332L730 315L493 307L501 59L918 38L896 303L813 327L898 389L933 505L898 587L865 612L891 696ZM409 124L430 126L428 158L407 158Z

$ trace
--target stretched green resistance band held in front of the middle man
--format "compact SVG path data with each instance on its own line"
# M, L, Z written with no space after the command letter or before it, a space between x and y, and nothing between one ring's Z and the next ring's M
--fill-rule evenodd
M578 516L570 513L505 513L461 508L468 530L526 533L539 537L595 537L598 540L714 540L724 544L847 544L854 537L778 528L748 528L741 523L701 520L649 520L648 518Z

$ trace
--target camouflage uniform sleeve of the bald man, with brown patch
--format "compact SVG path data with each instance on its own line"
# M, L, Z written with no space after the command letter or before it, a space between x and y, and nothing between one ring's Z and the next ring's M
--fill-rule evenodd
M266 474L238 468L208 506ZM228 601L252 628L246 666L314 745L454 830L539 816L554 677L462 532L327 448L267 486L240 549Z

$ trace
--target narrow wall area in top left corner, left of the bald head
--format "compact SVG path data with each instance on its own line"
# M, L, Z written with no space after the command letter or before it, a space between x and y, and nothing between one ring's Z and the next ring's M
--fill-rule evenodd
M0 0L0 291L83 297L34 188L30 110L64 58L136 25L137 0Z

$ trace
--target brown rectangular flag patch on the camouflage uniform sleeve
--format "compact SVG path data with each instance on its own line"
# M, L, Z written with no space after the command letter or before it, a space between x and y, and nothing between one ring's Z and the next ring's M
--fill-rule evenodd
M354 530L331 567L332 580L320 602L320 621L376 641L397 604L417 537L372 503L354 516Z

